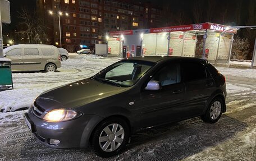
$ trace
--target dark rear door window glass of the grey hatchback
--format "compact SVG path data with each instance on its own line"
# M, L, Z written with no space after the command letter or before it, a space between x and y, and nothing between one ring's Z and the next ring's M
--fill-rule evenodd
M194 81L207 77L205 66L200 62L182 62L182 79Z

